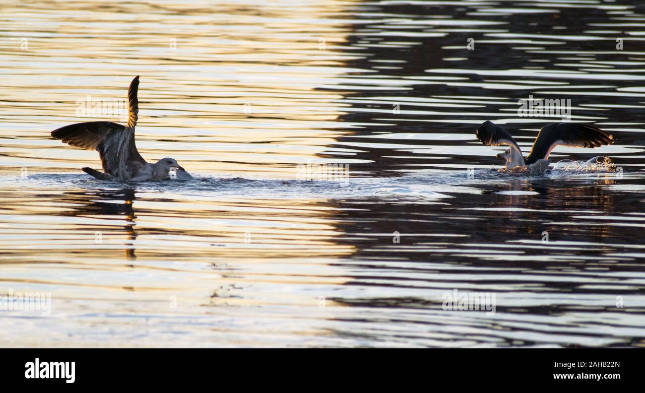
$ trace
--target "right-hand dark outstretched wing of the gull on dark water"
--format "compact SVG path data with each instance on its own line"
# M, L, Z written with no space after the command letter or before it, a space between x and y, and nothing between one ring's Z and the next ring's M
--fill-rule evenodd
M541 128L528 157L526 164L530 165L539 159L548 159L551 150L558 145L573 147L599 147L611 145L615 138L590 125L580 123L553 123Z

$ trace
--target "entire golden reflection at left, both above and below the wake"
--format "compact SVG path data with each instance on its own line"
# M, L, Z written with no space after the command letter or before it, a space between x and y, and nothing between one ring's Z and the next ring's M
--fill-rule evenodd
M293 179L295 165L319 159L344 134L337 128L352 127L339 121L342 92L321 90L348 72L348 27L333 15L351 3L301 3L1 5L0 122L8 130L0 137L1 174L99 168L97 152L49 133L81 121L123 123L77 117L77 101L123 99L140 75L136 135L145 159L174 157L203 176ZM50 330L65 330L61 317L71 315L72 334L94 323L79 310L130 313L126 325L137 325L142 312L179 312L190 321L217 305L316 310L320 292L281 291L346 281L327 263L353 247L334 241L343 234L324 199L182 194L3 186L0 290L54 292ZM10 336L0 344L65 345L52 332L35 341ZM83 342L77 337L73 345ZM137 345L127 333L95 344Z

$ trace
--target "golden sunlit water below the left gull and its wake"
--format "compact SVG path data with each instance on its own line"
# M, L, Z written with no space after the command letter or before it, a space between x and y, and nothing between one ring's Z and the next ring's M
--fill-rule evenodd
M83 330L86 323L114 325L113 318L121 315L126 318L125 336L98 339L95 345L137 346L141 344L127 338L127 325L137 325L140 315L158 321L179 317L189 324L184 328L196 332L190 321L208 316L211 307L220 316L236 314L231 307L317 310L323 292L293 288L327 288L348 281L341 268L328 265L354 252L352 246L334 241L343 234L336 228L333 208L310 200L172 197L130 190L0 193L0 289L52 292L55 319L46 325L54 330ZM43 199L49 202L37 203ZM325 305L338 306L332 299ZM78 314L83 310L104 317L87 319ZM67 315L75 318L61 321ZM261 321L270 316L255 317ZM239 327L213 327L240 333ZM82 345L86 338L83 330L73 344L59 342L54 330L40 339L12 332L0 344ZM219 340L224 341L217 345L266 345L252 336L207 339L213 345Z

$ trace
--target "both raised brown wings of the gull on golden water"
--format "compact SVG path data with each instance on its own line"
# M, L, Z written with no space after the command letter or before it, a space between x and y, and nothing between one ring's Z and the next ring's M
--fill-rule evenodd
M128 126L111 121L90 121L58 128L52 131L52 137L72 146L96 149L101 157L103 171L119 177L121 181L127 181L130 177L128 168L133 168L136 164L146 164L134 142L134 127L139 112L138 87L137 76L128 89Z

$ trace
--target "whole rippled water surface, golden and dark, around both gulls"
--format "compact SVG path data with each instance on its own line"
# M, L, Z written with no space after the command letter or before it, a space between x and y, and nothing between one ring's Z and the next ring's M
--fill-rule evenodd
M52 295L0 345L645 346L639 2L191 3L0 5L0 292ZM194 181L97 181L50 137L136 75L141 154ZM524 152L559 121L530 95L617 137L554 162L615 167L491 170L482 121Z

